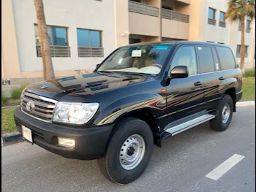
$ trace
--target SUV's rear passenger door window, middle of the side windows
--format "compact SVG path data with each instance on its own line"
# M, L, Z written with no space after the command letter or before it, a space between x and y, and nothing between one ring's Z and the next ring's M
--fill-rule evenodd
M211 47L198 47L200 73L214 72L214 58Z

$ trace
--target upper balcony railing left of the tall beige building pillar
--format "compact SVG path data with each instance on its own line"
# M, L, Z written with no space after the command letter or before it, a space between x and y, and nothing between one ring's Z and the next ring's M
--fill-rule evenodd
M159 9L148 4L142 4L135 1L129 1L129 12L137 12L143 15L158 17Z

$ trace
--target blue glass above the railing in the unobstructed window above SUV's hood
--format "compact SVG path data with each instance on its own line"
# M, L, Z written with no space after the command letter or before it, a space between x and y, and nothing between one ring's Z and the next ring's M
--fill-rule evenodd
M77 29L78 47L101 47L100 31Z

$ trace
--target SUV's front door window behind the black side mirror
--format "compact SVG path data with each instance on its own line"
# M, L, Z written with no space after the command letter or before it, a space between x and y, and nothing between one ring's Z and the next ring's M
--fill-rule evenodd
M173 58L171 69L175 66L187 66L189 75L197 74L195 47L181 47Z

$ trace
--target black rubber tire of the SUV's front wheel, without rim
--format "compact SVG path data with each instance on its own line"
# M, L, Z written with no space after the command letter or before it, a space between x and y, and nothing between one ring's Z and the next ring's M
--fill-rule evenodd
M134 134L138 134L144 139L145 152L138 166L134 169L127 170L121 166L119 155L124 142ZM105 157L98 159L99 169L113 183L131 183L138 179L145 171L151 159L153 147L153 134L148 124L138 118L125 118L118 123L116 131L108 144Z

